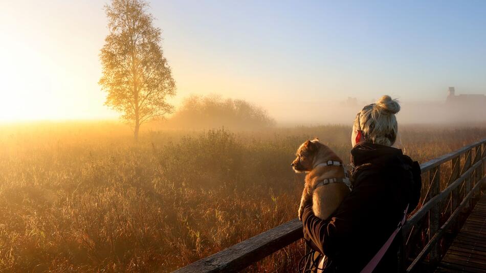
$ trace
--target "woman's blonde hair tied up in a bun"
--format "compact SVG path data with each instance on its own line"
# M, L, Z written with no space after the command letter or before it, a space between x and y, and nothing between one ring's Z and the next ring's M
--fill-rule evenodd
M398 132L395 118L398 111L398 101L385 95L377 102L363 107L356 116L354 125L362 131L365 142L392 146Z

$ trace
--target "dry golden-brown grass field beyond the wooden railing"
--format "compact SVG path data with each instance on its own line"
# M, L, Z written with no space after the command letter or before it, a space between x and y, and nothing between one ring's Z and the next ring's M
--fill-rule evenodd
M403 126L424 162L486 128ZM0 271L171 271L295 218L296 148L319 137L346 162L350 127L144 131L114 123L0 127ZM302 243L248 271L295 270ZM296 254L297 253L297 254Z

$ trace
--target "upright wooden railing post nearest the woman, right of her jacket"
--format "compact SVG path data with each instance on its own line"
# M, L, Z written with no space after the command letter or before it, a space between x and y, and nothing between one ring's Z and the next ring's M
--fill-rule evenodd
M432 198L440 192L440 165L429 171L429 181L429 196ZM437 233L437 230L439 229L440 212L441 209L439 208L439 204L436 204L429 211L429 241L432 239L432 237L434 237L435 233ZM430 265L435 266L440 259L439 256L439 245L436 243L430 250Z

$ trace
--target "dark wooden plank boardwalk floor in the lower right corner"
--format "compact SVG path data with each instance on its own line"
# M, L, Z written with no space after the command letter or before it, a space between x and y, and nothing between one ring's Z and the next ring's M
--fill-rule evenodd
M486 195L476 204L436 272L486 272Z

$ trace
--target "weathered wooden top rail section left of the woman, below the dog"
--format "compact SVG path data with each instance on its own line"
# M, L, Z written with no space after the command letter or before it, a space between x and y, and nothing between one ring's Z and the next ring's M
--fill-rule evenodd
M237 272L302 236L302 222L296 218L174 272Z

